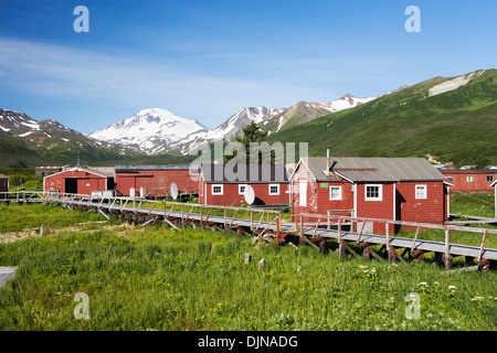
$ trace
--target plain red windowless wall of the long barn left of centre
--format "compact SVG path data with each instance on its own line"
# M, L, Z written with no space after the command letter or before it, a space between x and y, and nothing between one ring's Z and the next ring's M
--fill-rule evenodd
M191 176L191 178L190 178ZM139 170L137 172L116 172L116 191L118 195L129 195L134 188L139 195L141 188L149 196L170 194L171 183L180 192L199 192L199 184L189 170Z

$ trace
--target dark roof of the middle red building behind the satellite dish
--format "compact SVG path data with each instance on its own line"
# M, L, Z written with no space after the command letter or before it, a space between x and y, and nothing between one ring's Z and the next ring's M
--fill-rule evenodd
M285 183L288 173L284 164L212 164L200 165L205 183Z

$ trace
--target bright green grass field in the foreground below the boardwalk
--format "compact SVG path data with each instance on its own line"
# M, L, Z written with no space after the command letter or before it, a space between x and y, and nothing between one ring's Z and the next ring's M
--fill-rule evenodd
M250 237L160 225L94 223L55 233L101 216L8 207L21 218L38 213L53 233L0 244L0 266L18 266L0 289L0 330L497 329L495 271L340 260L310 246L256 250ZM15 229L10 223L2 218ZM87 320L74 317L80 292L89 299ZM419 319L405 314L410 292L420 296Z

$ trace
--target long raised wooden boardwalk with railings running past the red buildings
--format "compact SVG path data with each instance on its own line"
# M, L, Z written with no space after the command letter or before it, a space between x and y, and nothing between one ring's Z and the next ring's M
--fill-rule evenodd
M496 236L497 229L315 214L294 215L296 216L295 218L300 221L287 223L283 222L282 212L275 210L200 205L131 197L101 199L74 194L61 197L59 195L50 196L40 192L28 195L18 194L18 197L13 201L49 202L68 208L94 210L106 217L120 217L135 224L163 222L175 227L194 225L224 229L224 232L235 231L240 234L247 233L257 236L260 243L269 238L281 243L287 235L294 235L300 238L300 243L307 243L316 248L320 248L320 246L325 246L327 240L335 239L338 242L340 256L343 256L345 252L360 256L357 253L362 252L362 256L367 258L370 255L380 258L371 248L371 246L379 246L380 250L385 250L389 260L396 258L405 261L405 254L408 254L408 258L416 259L425 253L435 253L438 260L443 260L447 268L452 266L452 258L456 256L465 256L469 265L476 260L478 266L485 265L487 268L489 261L497 261L497 249L485 247L487 236ZM232 215L228 215L228 212L232 213ZM223 215L219 215L220 213L223 213ZM244 214L244 217L240 216L241 213ZM302 222L303 217L314 218L315 221L304 223ZM362 231L346 231L346 227L342 226L346 223L360 224L361 222L382 223L385 225L385 229L392 224L409 226L416 229L416 235L414 238L404 238L389 235L388 231L385 235L367 234L362 233ZM358 226L357 229L359 228ZM444 242L424 240L417 237L420 229L430 228L443 229L445 232ZM479 234L482 244L478 247L451 242L451 233L454 234L454 232ZM404 249L404 253L399 255L396 249Z

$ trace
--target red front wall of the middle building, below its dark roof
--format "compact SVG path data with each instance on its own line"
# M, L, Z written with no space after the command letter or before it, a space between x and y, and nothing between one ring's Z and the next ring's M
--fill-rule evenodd
M239 185L251 185L254 189L255 201L254 205L277 205L289 203L289 183L272 183L279 185L279 194L269 195L269 183L199 183L199 202L209 205L221 206L239 206L246 204L245 197L239 192ZM212 185L222 185L223 194L213 195Z

